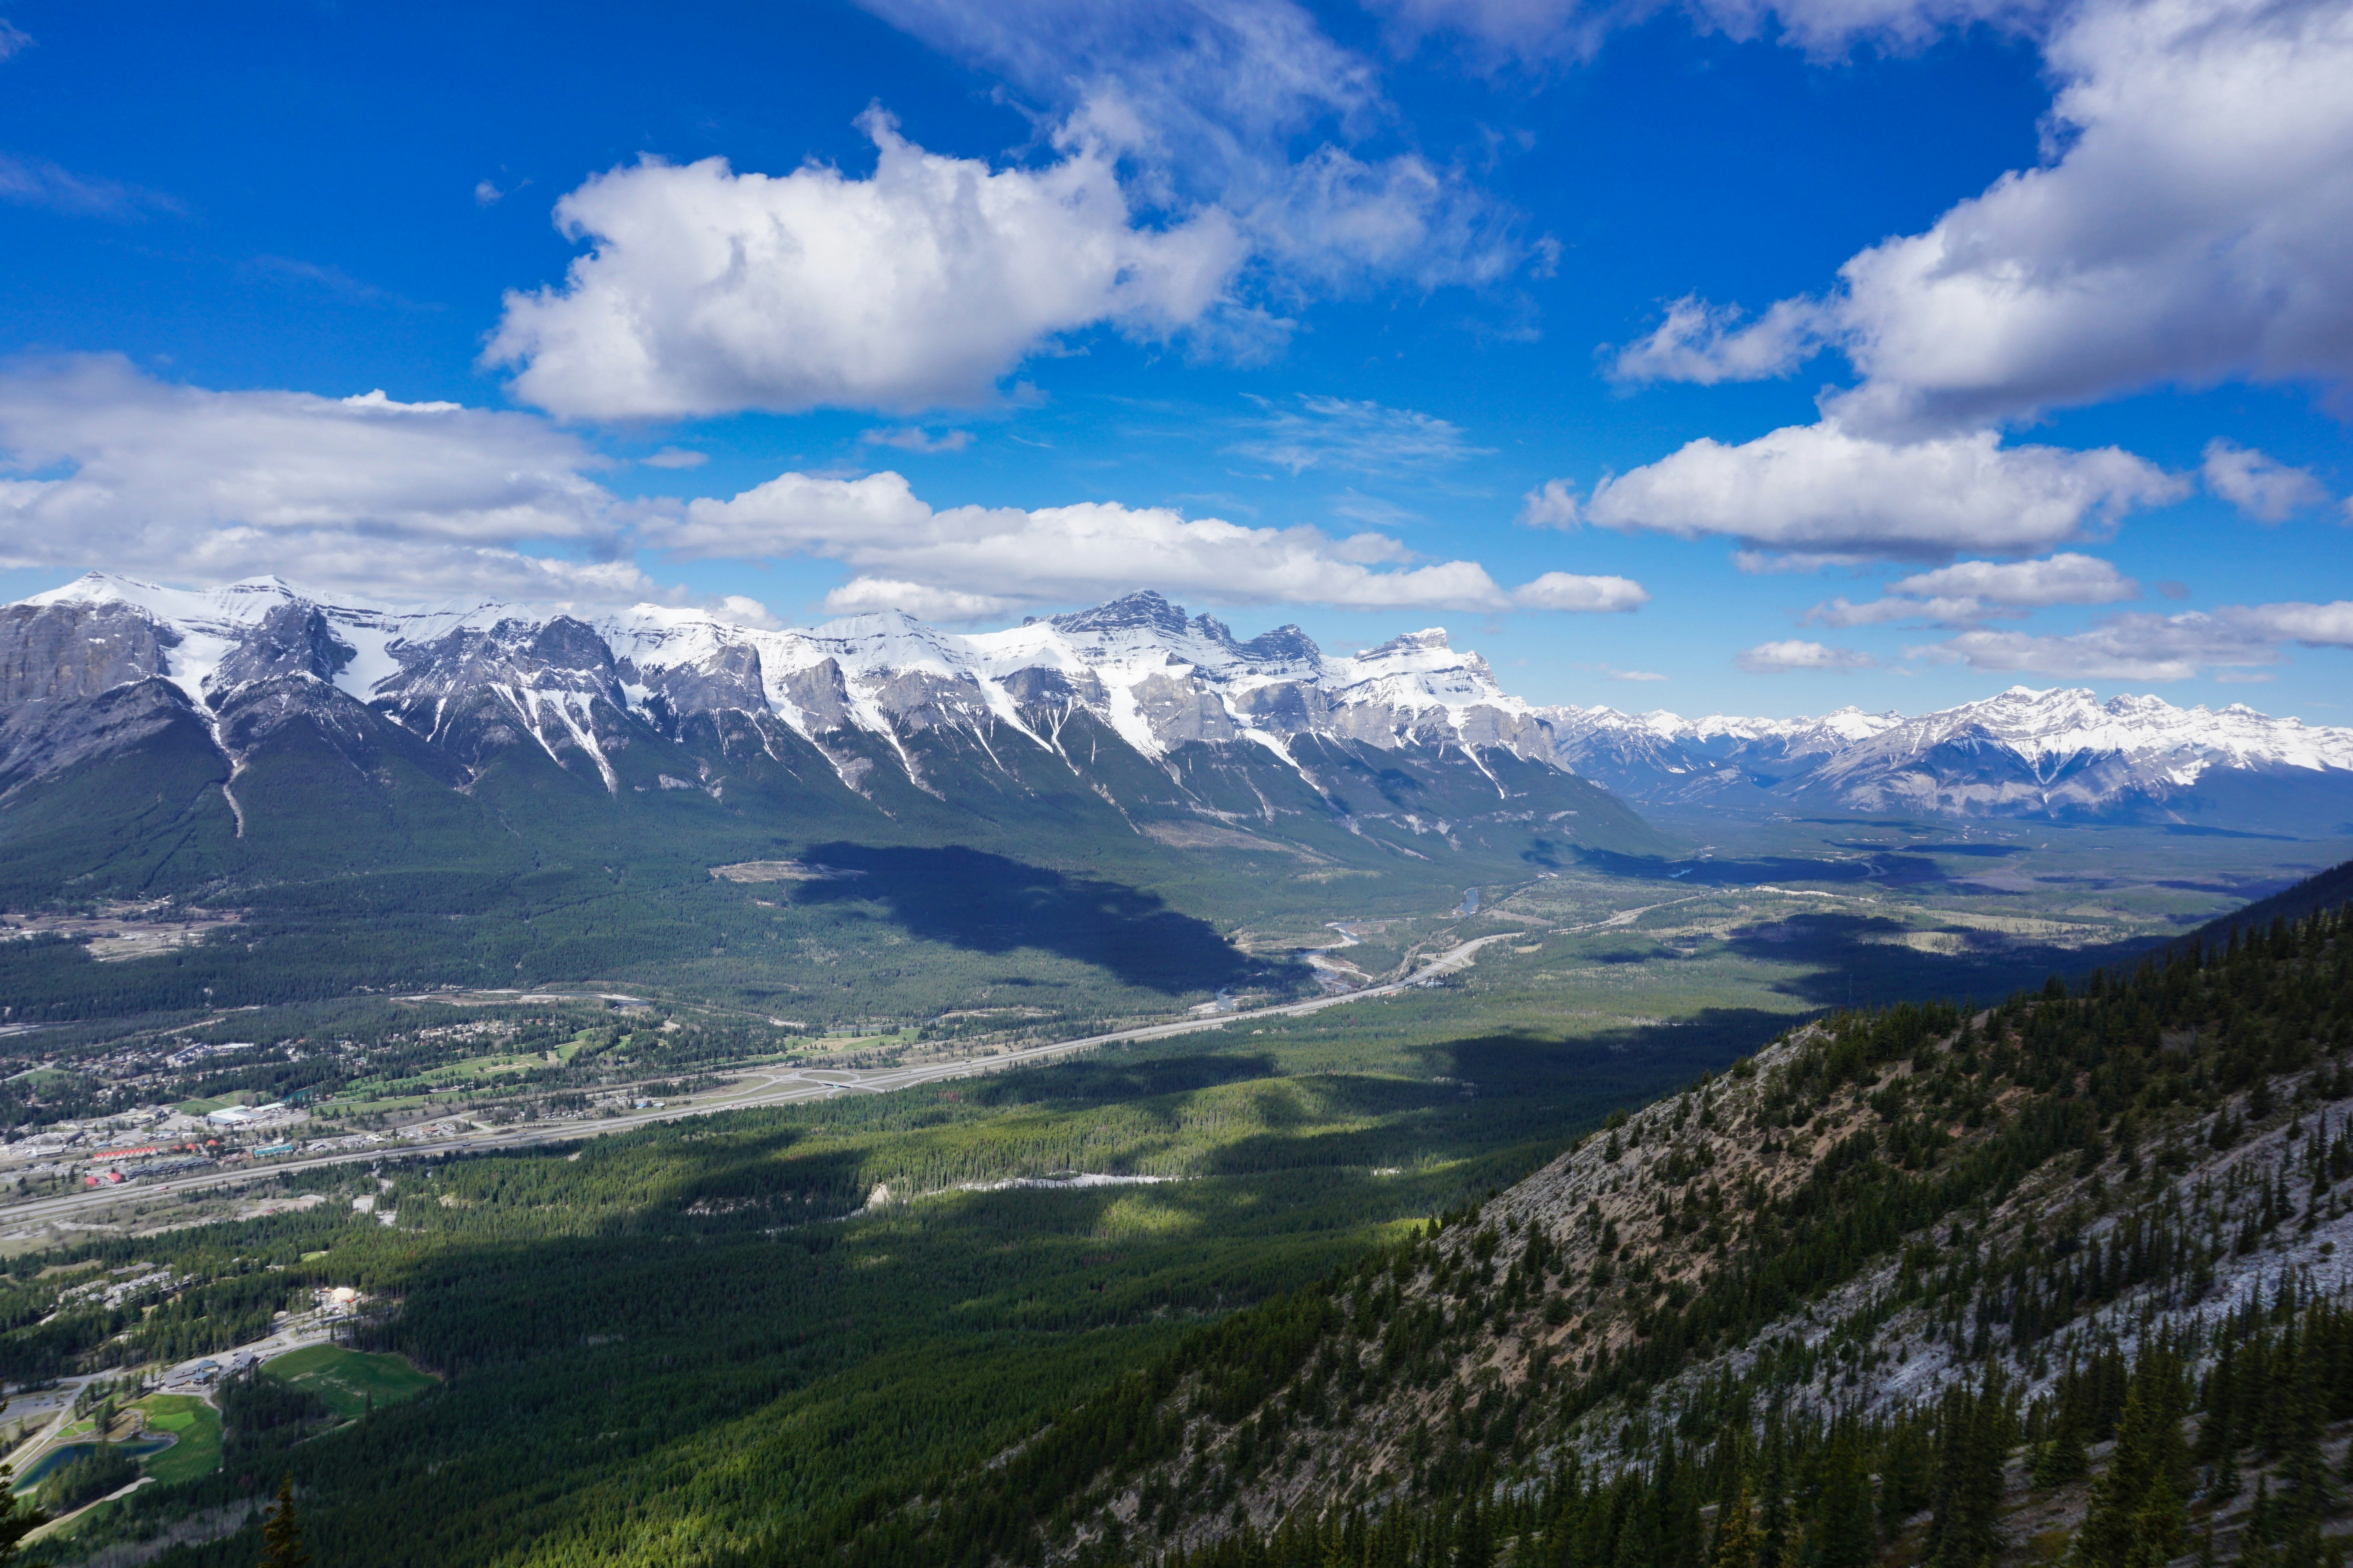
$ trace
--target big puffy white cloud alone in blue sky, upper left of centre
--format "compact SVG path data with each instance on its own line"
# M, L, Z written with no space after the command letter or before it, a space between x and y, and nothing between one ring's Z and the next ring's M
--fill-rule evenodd
M1242 261L1219 209L1132 221L1106 155L1040 169L927 153L868 110L868 179L645 160L565 195L591 240L562 287L511 292L485 360L560 416L984 404L1064 331L1165 336Z

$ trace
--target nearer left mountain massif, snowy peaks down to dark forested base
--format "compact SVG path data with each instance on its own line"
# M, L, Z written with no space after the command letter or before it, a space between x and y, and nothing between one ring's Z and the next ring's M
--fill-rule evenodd
M87 576L0 609L0 896L546 863L588 837L624 860L986 844L1440 884L1668 849L1445 632L1332 658L1153 592L981 635L273 578Z

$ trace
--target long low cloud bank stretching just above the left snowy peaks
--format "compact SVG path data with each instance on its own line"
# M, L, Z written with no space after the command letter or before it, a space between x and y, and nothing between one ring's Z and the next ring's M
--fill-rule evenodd
M664 468L699 454L656 451ZM1139 583L1217 604L1631 611L1619 576L1499 585L1379 531L1242 527L1169 508L932 508L904 475L779 475L736 496L628 501L621 470L536 414L384 393L219 393L122 357L0 369L0 569L106 567L167 581L282 574L372 597L487 592L555 604L685 602L635 564L840 562L831 609L984 618ZM553 545L553 550L551 550ZM767 609L720 604L765 623Z

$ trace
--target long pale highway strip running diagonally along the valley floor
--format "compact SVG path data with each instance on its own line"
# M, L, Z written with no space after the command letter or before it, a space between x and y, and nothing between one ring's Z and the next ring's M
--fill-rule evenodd
M1689 903L1689 900L1673 900ZM1591 926L1574 926L1569 931L1555 931L1548 936L1574 936L1577 931L1593 931L1600 926L1624 926L1649 910L1664 905L1647 905L1642 910L1621 910L1609 919L1593 922ZM1348 1006L1351 1001L1372 1001L1377 997L1395 997L1417 985L1428 985L1442 976L1454 976L1468 969L1480 947L1501 940L1520 940L1525 931L1497 931L1494 936L1482 936L1459 947L1449 947L1435 959L1426 961L1412 976L1402 980L1388 980L1386 985L1367 985L1355 992L1339 992L1334 997L1315 997L1313 1001L1292 1001L1285 1006L1257 1009L1249 1013L1224 1013L1217 1018L1184 1018L1176 1023L1153 1023L1139 1030L1115 1030L1111 1034L1087 1034L1085 1039L1059 1039L1047 1046L1026 1046L1021 1051L1002 1051L998 1056L965 1056L939 1063L922 1063L918 1067L882 1067L873 1072L845 1072L831 1067L751 1067L741 1070L741 1084L708 1100L694 1100L689 1105L666 1105L652 1112L635 1112L626 1117L609 1117L602 1121L529 1121L513 1128L499 1128L494 1133L459 1133L452 1138L435 1140L400 1140L381 1143L362 1150L334 1150L327 1154L306 1154L301 1159L273 1159L266 1166L238 1166L231 1171L200 1171L195 1175L174 1175L160 1182L136 1182L122 1187L94 1187L85 1192L66 1192L47 1199L31 1199L24 1204L0 1206L0 1225L19 1227L40 1220L61 1220L73 1213L89 1208L106 1208L122 1201L155 1199L172 1192L200 1192L207 1187L235 1187L252 1180L266 1180L271 1175L282 1175L287 1171L315 1171L320 1166L348 1166L358 1161L376 1161L386 1157L412 1159L416 1154L475 1154L492 1150L527 1150L546 1143L576 1143L581 1138L598 1138L605 1133L621 1133L638 1126L649 1126L654 1121L680 1121L685 1117L711 1117L727 1110L748 1110L753 1105L793 1105L798 1100L831 1100L842 1093L887 1093L892 1088L913 1088L918 1084L939 1084L944 1079L962 1079L976 1072L1000 1072L1005 1067L1021 1067L1026 1063L1040 1063L1056 1056L1071 1056L1075 1051L1094 1051L1096 1046L1111 1046L1129 1039L1169 1039L1172 1034L1193 1034L1198 1030L1224 1030L1233 1023L1257 1023L1261 1018L1304 1018L1308 1013L1320 1013L1332 1006Z

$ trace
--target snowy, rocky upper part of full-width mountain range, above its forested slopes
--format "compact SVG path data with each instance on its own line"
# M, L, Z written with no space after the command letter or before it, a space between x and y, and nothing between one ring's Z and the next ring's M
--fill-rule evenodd
M134 689L146 696L129 701ZM108 693L113 708L92 712ZM0 611L0 790L120 743L125 724L165 722L158 703L202 722L233 771L292 715L320 722L334 708L346 729L372 715L459 773L508 743L536 743L612 795L631 724L673 741L718 724L722 752L727 724L741 724L772 757L781 736L805 743L861 795L878 762L939 795L915 736L969 736L998 766L1000 745L1028 748L1075 771L1064 729L1087 715L1162 771L1188 745L1238 748L1325 795L1329 757L1346 752L1466 769L1504 802L1513 788L1499 757L1661 806L1805 802L2289 832L2353 818L2353 731L2245 705L2012 686L1920 717L1539 708L1442 630L1332 656L1297 625L1242 642L1158 592L974 635L904 614L774 630L664 607L593 618L492 602L395 609L275 578L172 590L104 574Z

